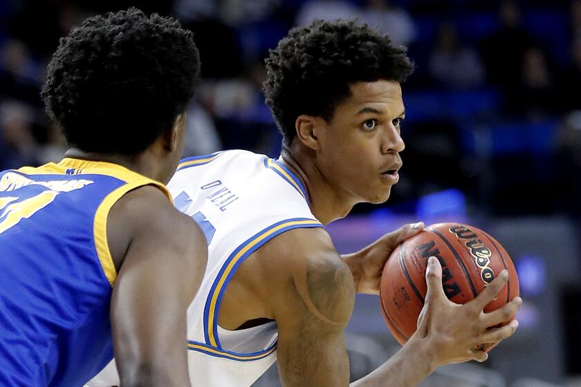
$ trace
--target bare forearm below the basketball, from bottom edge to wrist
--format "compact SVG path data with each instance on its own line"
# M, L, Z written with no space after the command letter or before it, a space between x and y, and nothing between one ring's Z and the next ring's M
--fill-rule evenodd
M353 381L351 387L413 387L434 372L425 341L412 337L396 355L369 375Z

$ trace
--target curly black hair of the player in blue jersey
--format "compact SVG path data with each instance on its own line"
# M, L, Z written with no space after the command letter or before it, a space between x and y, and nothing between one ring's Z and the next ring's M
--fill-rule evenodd
M191 31L129 8L61 38L41 95L70 146L135 155L185 111L199 70Z

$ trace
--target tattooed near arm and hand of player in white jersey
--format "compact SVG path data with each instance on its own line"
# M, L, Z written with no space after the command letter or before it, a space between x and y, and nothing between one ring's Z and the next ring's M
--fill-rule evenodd
M295 229L263 248L263 256L268 257L263 262L268 290L263 299L279 327L277 355L283 386L348 386L343 330L351 317L355 288L347 263L322 229ZM501 272L476 299L457 305L446 298L441 266L430 258L418 330L394 357L351 386L412 387L437 366L486 360L488 354L476 349L479 344L501 341L517 328L515 321L489 327L510 321L522 303L519 297L499 310L483 312L507 279Z

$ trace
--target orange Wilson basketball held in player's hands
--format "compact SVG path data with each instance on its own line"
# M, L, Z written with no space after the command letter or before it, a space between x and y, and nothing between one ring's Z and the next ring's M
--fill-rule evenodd
M401 344L416 332L427 291L425 271L430 256L440 261L444 292L454 303L474 299L504 269L508 270L508 284L484 312L501 308L519 295L515 265L497 240L468 225L430 225L394 250L381 276L383 317ZM482 348L489 350L492 346Z

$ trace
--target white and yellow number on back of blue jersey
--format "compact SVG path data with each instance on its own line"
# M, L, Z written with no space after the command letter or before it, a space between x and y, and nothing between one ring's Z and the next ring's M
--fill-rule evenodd
M57 191L43 191L21 201L15 197L0 198L0 234L49 205L58 194Z

